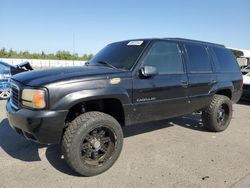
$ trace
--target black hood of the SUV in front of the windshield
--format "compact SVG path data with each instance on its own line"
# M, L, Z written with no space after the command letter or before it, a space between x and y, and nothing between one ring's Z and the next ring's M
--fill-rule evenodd
M13 76L12 79L28 86L42 86L64 80L87 77L93 79L95 76L106 77L118 72L121 71L104 66L63 67L23 72Z

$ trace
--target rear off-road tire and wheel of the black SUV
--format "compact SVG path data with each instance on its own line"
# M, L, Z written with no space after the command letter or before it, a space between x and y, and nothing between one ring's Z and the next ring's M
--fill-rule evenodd
M224 95L214 95L211 104L202 112L203 124L211 131L224 131L232 119L232 101Z

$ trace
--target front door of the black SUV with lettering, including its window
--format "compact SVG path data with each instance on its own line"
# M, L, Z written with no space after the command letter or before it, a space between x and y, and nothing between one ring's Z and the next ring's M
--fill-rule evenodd
M133 79L134 121L160 120L187 113L188 79L177 43L156 41L142 58L141 67L154 66L159 74Z

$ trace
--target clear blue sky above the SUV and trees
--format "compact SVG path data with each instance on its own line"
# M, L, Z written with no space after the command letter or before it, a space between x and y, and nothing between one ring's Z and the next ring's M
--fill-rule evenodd
M250 0L0 0L0 48L96 53L133 38L184 37L250 50Z

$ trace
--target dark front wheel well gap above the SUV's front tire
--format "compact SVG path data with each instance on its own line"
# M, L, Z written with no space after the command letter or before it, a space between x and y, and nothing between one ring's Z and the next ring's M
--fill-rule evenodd
M89 111L100 111L114 117L122 126L125 124L124 111L118 99L98 99L80 102L70 108L66 117L66 124L74 120L80 114Z

